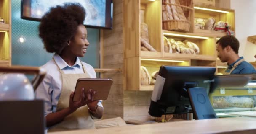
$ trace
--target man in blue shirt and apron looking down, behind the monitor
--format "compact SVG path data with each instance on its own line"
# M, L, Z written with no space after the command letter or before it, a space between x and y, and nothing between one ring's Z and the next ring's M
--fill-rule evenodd
M227 62L227 69L224 75L229 74L256 74L254 67L239 57L239 41L234 36L223 36L216 42L216 50L221 62Z

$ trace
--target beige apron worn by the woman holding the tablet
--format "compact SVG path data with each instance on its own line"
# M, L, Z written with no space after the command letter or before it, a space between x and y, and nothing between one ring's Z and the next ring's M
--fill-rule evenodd
M53 61L55 62L54 59ZM56 65L58 66L58 64ZM85 72L84 74L64 74L63 70L60 70L60 68L59 71L62 77L62 89L56 111L60 111L64 108L69 107L69 96L70 93L75 90L77 79L91 78L89 74L86 72L85 67L83 67L83 71ZM61 121L59 124L54 125L50 129L48 129L48 131L65 131L73 129L93 128L95 128L94 121L91 117L91 114L88 111L88 106L85 105L78 108L75 112L69 114L66 118L64 118L63 121Z

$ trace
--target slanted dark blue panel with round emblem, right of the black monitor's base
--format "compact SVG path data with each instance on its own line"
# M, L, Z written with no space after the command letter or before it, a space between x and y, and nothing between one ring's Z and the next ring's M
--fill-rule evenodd
M207 95L205 88L189 88L189 101L192 106L195 119L218 118Z

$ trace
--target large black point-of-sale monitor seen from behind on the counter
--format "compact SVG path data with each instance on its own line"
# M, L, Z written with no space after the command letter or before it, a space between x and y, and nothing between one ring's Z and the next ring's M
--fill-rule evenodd
M203 87L209 93L215 71L215 67L161 66L159 75L165 83L160 100L151 101L149 114L160 117L165 113L192 113L187 89Z

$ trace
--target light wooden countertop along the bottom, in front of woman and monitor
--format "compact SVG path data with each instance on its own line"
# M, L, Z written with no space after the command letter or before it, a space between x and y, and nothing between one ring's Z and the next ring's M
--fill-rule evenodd
M243 131L243 132L242 132ZM62 131L48 134L256 134L256 118L236 117L176 121L105 129Z

